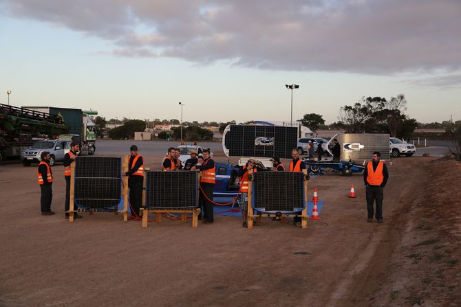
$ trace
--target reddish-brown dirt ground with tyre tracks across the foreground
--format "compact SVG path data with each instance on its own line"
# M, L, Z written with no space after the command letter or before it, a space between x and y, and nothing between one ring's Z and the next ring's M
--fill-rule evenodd
M308 185L321 220L250 230L226 216L197 229L110 213L69 223L61 165L56 215L41 216L36 167L0 166L0 306L461 306L461 165L388 167L383 224L366 222L361 175L328 173Z

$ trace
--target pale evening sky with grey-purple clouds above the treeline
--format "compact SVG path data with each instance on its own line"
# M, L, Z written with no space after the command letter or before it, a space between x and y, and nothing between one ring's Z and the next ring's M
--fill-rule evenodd
M461 1L0 0L0 102L105 117L294 120L404 93L461 119Z

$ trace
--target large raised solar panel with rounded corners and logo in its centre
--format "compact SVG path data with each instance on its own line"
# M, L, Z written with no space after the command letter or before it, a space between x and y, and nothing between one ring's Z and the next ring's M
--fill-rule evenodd
M231 157L290 159L297 148L297 128L283 126L230 125L224 144Z

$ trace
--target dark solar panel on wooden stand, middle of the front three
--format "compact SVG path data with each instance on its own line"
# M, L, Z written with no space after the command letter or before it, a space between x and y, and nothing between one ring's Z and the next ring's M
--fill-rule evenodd
M146 172L146 207L149 209L193 209L197 205L197 172Z

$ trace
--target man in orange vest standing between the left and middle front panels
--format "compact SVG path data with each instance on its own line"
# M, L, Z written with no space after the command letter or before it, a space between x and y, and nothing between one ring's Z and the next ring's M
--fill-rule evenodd
M140 216L142 205L142 186L144 185L144 160L138 155L138 146L131 145L129 148L131 156L128 161L129 205L131 206L131 217L136 219Z

